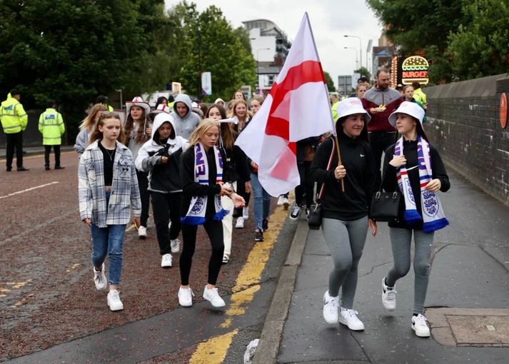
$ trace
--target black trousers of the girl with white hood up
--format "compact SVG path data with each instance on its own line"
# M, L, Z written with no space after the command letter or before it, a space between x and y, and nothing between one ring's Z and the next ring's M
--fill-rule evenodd
M156 223L157 242L161 256L171 253L170 241L178 238L181 232L182 193L150 192L153 221ZM168 231L168 222L171 228Z

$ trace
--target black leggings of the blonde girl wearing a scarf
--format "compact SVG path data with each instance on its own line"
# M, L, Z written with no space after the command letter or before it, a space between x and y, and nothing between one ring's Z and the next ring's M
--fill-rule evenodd
M173 223L171 223L173 225ZM223 223L221 221L207 220L203 224L208 238L211 239L212 255L208 261L208 284L216 285L221 263L223 261ZM189 284L189 273L193 263L193 254L196 247L196 231L198 226L182 223L183 248L180 259L181 285Z

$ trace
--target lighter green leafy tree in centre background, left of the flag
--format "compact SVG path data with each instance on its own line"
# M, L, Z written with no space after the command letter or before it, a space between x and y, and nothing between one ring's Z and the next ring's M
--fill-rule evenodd
M256 62L251 54L245 30L233 29L221 9L209 6L199 13L196 4L181 2L171 9L170 17L181 19L184 37L181 58L184 60L178 81L188 93L201 93L201 72L210 71L213 100L229 99L242 85L256 83Z

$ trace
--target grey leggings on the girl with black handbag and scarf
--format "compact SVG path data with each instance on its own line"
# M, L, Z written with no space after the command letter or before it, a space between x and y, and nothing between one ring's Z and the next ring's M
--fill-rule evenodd
M386 284L394 287L396 280L407 275L410 271L410 244L415 241L413 256L413 272L415 275L413 313L423 313L424 300L428 290L428 280L431 270L431 250L435 233L424 233L420 230L390 228L390 245L393 247L394 266L387 275Z

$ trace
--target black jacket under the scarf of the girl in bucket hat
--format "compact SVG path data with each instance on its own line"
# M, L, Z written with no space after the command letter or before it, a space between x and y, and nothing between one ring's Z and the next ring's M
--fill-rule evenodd
M383 161L383 189L387 192L400 192L398 187L398 177L396 174L396 168L389 164L394 156L395 144L387 148L385 151L385 158ZM420 206L420 180L419 180L419 168L418 168L418 156L417 156L417 141L403 141L403 155L406 158L406 169L408 171L408 180L410 186L412 186L413 196L415 197L415 206L420 216L423 216L423 211ZM443 165L442 158L434 146L430 144L430 159L431 159L431 173L433 173L433 179L438 178L442 186L440 191L449 191L450 182ZM408 225L403 218L405 214L405 198L401 196L400 209L398 221L391 222L388 225L391 228L407 228L415 230L423 230L423 221L419 221L413 225Z

